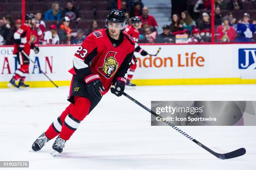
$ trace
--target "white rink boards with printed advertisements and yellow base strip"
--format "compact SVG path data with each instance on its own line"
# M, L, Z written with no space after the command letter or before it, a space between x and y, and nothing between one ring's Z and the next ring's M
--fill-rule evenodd
M216 45L141 45L149 54L137 52L137 69L133 82L137 85L203 85L256 84L256 44ZM26 81L31 87L54 87L38 66L59 86L70 84L77 45L41 46L35 54L31 50L30 74ZM6 88L18 62L13 47L0 47L0 87Z

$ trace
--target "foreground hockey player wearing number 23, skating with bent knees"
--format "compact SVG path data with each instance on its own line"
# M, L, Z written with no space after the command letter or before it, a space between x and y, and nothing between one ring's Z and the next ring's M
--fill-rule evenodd
M115 85L111 92L121 96L135 45L133 37L121 31L126 20L123 11L112 10L106 19L106 28L92 32L79 46L74 54L74 67L69 70L73 75L68 98L71 104L36 139L32 145L34 151L41 150L46 142L58 136L51 154L61 153L66 141L111 85Z

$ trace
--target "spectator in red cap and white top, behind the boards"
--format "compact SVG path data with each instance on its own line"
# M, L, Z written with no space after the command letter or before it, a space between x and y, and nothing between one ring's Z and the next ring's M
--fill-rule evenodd
M44 45L59 44L59 35L57 34L57 27L55 24L50 25L49 31L44 34Z

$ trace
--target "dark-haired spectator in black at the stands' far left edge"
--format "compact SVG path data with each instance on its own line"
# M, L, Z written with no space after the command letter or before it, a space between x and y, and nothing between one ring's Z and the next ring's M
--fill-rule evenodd
M3 23L0 35L3 36L5 40L5 45L13 45L13 33L15 32L15 28L13 27L13 17L12 15L5 15L3 17Z

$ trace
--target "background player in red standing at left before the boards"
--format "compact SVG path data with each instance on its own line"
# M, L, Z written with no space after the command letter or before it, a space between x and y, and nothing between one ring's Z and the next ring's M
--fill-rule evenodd
M30 49L33 49L35 53L39 52L37 45L31 43L31 28L36 25L36 19L33 14L26 15L26 23L21 25L21 27L14 33L14 50L13 54L17 55L17 60L20 68L15 71L12 79L8 83L8 87L18 89L18 88L28 88L29 86L24 83L25 74L28 73L29 66L29 56ZM26 53L26 55L23 54ZM15 81L19 81L18 85Z

